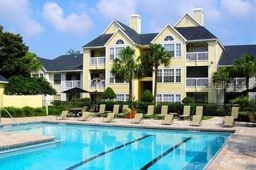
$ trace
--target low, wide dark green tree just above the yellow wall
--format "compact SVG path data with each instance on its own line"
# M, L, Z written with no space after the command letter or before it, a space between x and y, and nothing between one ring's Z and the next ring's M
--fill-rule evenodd
M6 95L55 95L57 92L44 78L13 76L4 89Z

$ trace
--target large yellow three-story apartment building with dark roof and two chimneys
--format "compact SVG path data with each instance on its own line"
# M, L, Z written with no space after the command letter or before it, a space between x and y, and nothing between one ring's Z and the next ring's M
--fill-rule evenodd
M158 101L180 102L186 96L195 102L223 101L223 92L207 88L212 74L218 66L232 65L234 59L244 53L256 56L255 45L223 46L204 27L202 8L194 9L193 13L193 16L186 13L174 27L167 24L158 33L141 33L141 17L137 14L131 15L130 27L117 20L111 22L102 35L83 46L82 87L92 91L91 94L83 94L83 97L100 98L102 92L111 87L117 94L116 100L127 100L129 84L115 79L110 72L114 58L125 46L133 47L135 55L140 56L149 49L150 43L158 43L174 57L168 67L159 67L158 78L152 74L133 80L133 96L136 99L146 89L154 91L154 81L158 81Z

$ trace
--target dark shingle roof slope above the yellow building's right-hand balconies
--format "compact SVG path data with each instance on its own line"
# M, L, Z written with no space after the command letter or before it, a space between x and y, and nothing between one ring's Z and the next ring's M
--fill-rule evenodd
M175 29L187 40L215 39L210 31L202 26L198 27L175 27Z

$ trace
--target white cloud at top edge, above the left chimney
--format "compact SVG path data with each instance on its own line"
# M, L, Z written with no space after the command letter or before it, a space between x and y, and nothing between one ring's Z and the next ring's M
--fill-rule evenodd
M135 13L137 2L135 0L100 0L96 7L105 18L127 21L129 16Z

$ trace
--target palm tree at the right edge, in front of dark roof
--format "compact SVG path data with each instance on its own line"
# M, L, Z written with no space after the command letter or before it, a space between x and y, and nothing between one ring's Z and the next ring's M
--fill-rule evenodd
M234 70L245 76L246 88L249 88L249 79L256 73L256 59L249 54L243 54L239 60L235 61Z

